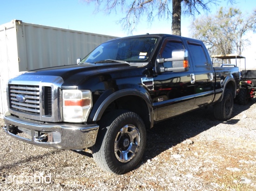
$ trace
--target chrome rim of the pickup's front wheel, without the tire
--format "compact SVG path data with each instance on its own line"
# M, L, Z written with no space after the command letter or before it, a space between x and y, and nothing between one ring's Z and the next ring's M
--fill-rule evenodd
M140 147L140 132L134 125L125 125L115 137L115 156L118 161L126 163L133 159Z

